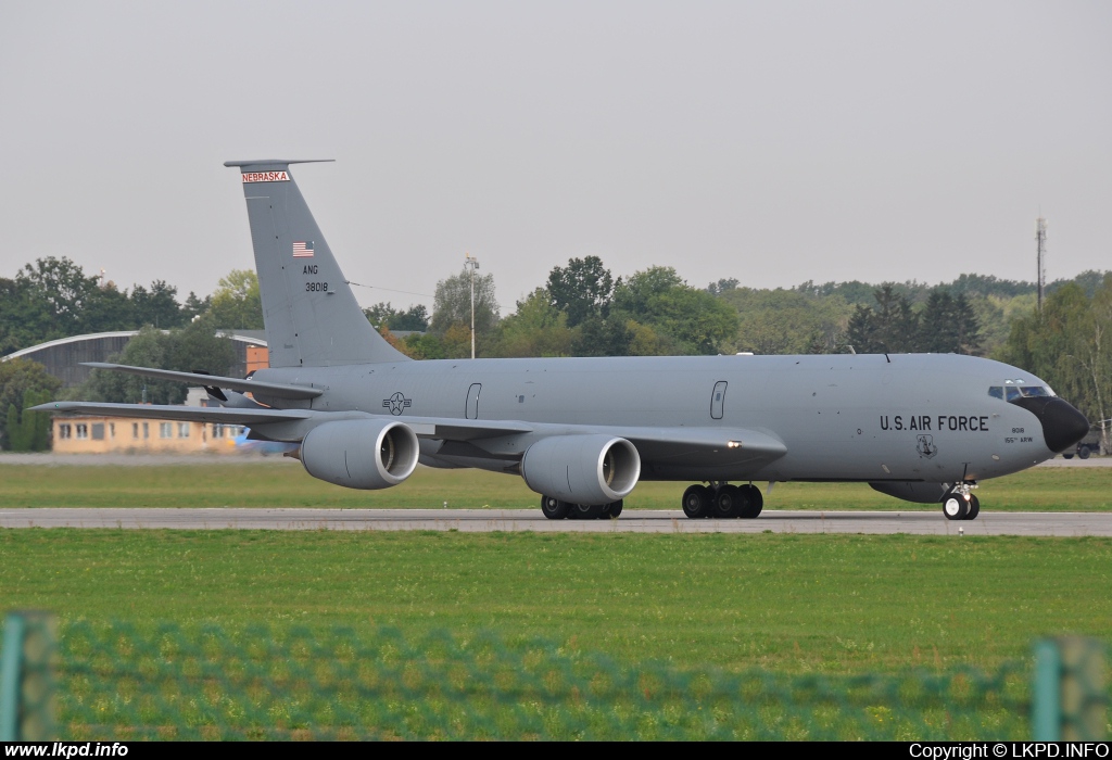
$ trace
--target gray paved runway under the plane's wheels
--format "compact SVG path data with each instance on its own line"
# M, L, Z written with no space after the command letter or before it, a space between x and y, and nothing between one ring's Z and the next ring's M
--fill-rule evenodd
M912 533L1112 536L1109 512L993 512L954 522L942 511L766 510L755 520L689 520L679 510L629 510L617 520L547 520L539 509L0 509L0 528L170 530L457 530L565 533Z

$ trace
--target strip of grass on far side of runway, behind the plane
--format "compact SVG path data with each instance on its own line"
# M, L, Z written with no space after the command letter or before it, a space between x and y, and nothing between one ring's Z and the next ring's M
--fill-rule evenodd
M761 483L762 488L765 487ZM642 482L627 509L678 509L686 483ZM985 481L985 510L1109 511L1112 469L1036 468ZM385 491L355 491L310 478L296 462L112 466L0 466L4 507L449 507L535 508L539 497L515 476L418 468ZM934 510L864 483L777 483L767 509Z

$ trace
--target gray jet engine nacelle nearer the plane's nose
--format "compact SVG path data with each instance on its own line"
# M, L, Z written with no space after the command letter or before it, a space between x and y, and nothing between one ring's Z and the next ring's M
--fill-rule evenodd
M624 438L553 436L525 451L522 477L542 496L576 504L624 499L641 477L641 456Z

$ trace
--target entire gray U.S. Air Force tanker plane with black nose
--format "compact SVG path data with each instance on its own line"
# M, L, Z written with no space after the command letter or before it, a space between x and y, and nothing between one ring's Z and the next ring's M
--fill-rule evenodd
M695 481L682 499L691 518L755 518L754 481L797 480L866 482L967 520L977 481L1089 431L1030 372L955 354L413 361L360 311L294 163L225 164L247 197L268 369L237 379L98 363L203 384L219 407L38 409L249 426L299 443L309 474L349 488L397 486L418 462L506 472L553 519L617 517L638 480Z

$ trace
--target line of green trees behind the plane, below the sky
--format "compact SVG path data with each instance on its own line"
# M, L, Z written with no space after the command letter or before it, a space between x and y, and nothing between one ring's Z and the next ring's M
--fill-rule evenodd
M415 359L468 357L470 276L463 270L437 282L431 313L424 304L396 309L389 302L365 313ZM807 281L770 290L724 278L696 288L671 267L615 277L588 256L554 267L507 316L500 313L494 274L476 273L475 338L478 356L487 358L736 351L987 356L1040 374L1096 421L1108 418L1112 398L1110 278L1090 271L1055 281L1037 312L1033 283L979 274L936 286ZM120 290L86 276L69 259L40 259L12 279L0 278L0 353L83 332L145 328L119 361L226 373L235 354L216 331L264 327L255 272L232 270L203 299L190 292L179 302L177 292L161 280ZM9 368L8 374L13 379L6 381L0 372L0 390L22 383L31 392L59 391L44 379L32 381L27 369ZM132 402L143 392L149 401L173 403L183 388L95 372L86 386L67 391L73 398ZM21 424L22 397L6 393L0 410L14 406L13 421ZM0 416L6 446L10 418L11 410L8 418Z

